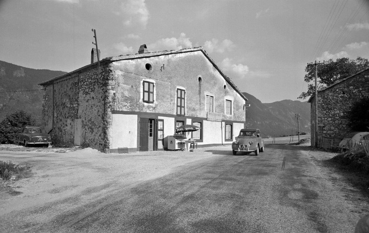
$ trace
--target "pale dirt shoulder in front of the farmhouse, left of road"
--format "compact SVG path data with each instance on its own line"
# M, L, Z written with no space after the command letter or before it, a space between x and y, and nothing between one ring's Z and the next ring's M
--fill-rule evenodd
M27 164L33 176L9 183L14 193L1 192L0 213L5 215L77 196L86 200L103 197L121 184L129 186L155 179L178 166L215 156L204 150L209 149L106 154L91 148L3 148L0 160Z

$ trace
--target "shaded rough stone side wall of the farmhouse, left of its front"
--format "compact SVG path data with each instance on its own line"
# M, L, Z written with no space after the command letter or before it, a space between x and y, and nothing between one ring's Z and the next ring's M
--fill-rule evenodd
M52 129L56 145L73 145L75 135L80 145L98 150L109 148L105 137L110 119L109 70L102 69L97 79L96 67L87 67L45 85L43 125ZM76 121L80 124L76 124ZM80 129L76 129L80 125ZM78 132L78 133L76 133Z

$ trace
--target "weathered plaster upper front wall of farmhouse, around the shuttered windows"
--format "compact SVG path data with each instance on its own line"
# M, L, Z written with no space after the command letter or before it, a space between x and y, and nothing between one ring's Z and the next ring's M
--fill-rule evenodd
M147 70L146 64L152 68ZM186 89L186 116L207 117L206 93L211 93L215 113L222 114L224 120L245 120L244 100L201 51L116 61L111 69L116 80L117 111L176 115L176 88L179 86ZM140 81L147 79L155 82L154 104L142 101ZM232 100L232 115L225 115L225 97Z

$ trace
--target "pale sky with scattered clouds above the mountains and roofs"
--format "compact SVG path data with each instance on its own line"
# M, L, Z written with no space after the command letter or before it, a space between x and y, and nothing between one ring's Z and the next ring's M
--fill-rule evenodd
M0 0L0 60L76 70L92 29L101 59L201 46L263 103L298 100L307 63L369 58L368 0Z

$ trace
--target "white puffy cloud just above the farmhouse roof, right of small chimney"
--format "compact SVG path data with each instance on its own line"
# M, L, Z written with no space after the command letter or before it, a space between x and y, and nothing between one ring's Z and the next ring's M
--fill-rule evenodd
M163 50L181 50L192 48L192 42L185 33L181 33L178 38L162 38L147 46L149 51L163 51Z

